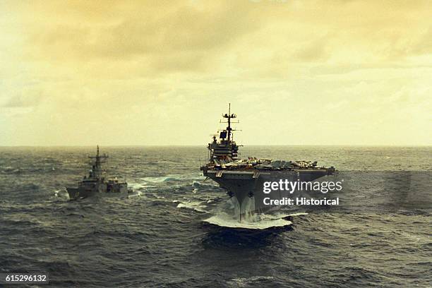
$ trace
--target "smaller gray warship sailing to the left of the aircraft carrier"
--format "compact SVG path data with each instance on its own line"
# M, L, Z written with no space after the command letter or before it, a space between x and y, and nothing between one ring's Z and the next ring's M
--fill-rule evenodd
M132 189L128 188L126 181L118 179L105 179L102 172L101 164L107 160L106 154L100 155L99 145L95 156L89 156L92 160L91 169L88 176L84 176L83 180L78 182L78 187L66 187L69 199L76 200L80 198L88 198L90 196L120 196L128 197L133 195Z

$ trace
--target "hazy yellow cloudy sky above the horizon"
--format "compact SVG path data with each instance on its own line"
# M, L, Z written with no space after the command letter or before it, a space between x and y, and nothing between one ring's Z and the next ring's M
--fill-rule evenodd
M432 145L432 1L0 1L0 145Z

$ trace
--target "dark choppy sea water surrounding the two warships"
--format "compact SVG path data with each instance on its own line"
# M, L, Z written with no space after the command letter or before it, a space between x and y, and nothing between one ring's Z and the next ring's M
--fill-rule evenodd
M143 195L68 201L93 150L0 148L0 272L49 272L52 287L432 285L432 148L243 148L335 165L347 184L338 208L258 224L204 181L205 148L102 148Z

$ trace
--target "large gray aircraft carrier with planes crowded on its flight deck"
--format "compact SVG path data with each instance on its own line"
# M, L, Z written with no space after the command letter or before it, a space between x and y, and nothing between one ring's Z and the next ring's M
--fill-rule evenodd
M226 121L220 121L220 123L228 124L227 128L218 131L219 139L213 136L212 143L208 144L208 163L200 167L200 170L203 171L204 176L224 188L229 198L236 200L240 221L246 213L275 209L275 205L263 204L265 197L282 199L286 196L281 191L263 193L265 181L287 179L292 182L310 182L337 172L335 167L318 167L316 161L273 161L256 157L239 159L239 145L234 141L233 131L235 130L232 128L232 119L236 118L236 114L231 113L231 104L229 104L228 113L222 114L222 117Z

